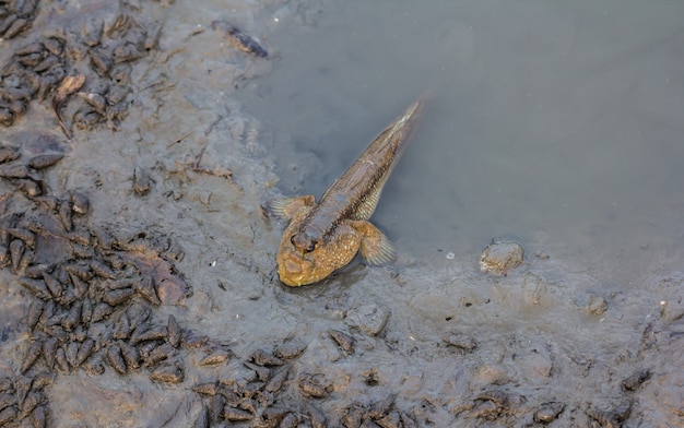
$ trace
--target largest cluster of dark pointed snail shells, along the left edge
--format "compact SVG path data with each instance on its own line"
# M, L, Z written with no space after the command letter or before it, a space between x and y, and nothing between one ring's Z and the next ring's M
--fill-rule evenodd
M79 190L54 195L43 177L63 154L25 158L23 152L0 148L0 177L17 189L2 201L0 261L17 275L7 286L33 296L23 321L28 340L21 367L0 378L2 424L31 419L46 426L43 390L52 372L97 376L109 366L121 376L145 370L153 381L182 382L185 333L173 316L163 324L153 317L160 305L190 294L173 266L181 250L144 230L115 237L92 226L87 195ZM151 264L157 269L148 269Z

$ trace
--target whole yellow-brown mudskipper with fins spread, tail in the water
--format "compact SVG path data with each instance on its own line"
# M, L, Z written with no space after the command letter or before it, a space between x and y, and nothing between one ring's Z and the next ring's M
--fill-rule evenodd
M284 284L321 281L358 251L373 265L394 259L392 243L368 219L423 106L416 100L380 132L318 203L312 195L271 203L278 216L290 219L278 250L278 274Z

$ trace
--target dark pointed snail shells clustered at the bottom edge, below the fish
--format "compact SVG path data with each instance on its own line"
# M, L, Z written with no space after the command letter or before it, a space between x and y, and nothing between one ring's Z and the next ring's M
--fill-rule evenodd
M329 396L331 387L322 376L303 373L288 381L288 360L297 357L306 345L284 342L273 353L255 350L243 364L249 374L240 380L226 379L201 383L192 390L205 397L205 404L196 427L249 423L249 426L295 428L329 426L325 413L315 403ZM287 405L286 383L296 385L302 399ZM283 396L281 396L281 394ZM394 408L394 394L369 405L354 403L342 413L339 421L345 428L358 427L417 427L409 414Z

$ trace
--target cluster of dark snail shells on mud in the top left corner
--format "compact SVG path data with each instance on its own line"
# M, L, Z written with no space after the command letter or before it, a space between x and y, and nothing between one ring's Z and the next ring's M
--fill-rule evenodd
M3 7L0 2L0 20L3 22L0 34L5 26L5 38L10 38L9 32L15 36L25 29L35 4L35 0L26 1L16 11L16 8ZM155 49L161 27L138 22L126 12L110 22L82 17L79 33L55 27L14 50L11 61L0 70L0 124L9 127L14 123L32 100L44 102L57 96L59 85L74 74L85 78L85 85L78 93L70 115L75 128L90 130L107 123L116 129L126 117L129 109L127 98L131 92L131 64ZM59 110L63 102L52 99L60 123ZM67 127L64 132L70 135Z

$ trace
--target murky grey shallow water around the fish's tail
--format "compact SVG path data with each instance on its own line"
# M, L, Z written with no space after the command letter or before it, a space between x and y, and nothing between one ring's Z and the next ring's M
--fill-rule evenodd
M434 86L375 221L415 260L492 238L640 284L682 248L684 4L329 3L245 99L281 189L321 194ZM287 157L291 145L297 157Z

